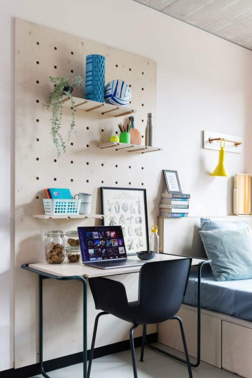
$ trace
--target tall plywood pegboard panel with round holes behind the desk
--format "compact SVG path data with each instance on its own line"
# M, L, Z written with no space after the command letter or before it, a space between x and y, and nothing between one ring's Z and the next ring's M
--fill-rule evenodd
M101 224L101 220L95 219L32 218L32 214L44 212L41 198L45 198L45 187L69 187L73 195L92 194L92 214L101 214L101 186L143 187L147 189L149 225L156 223L158 209L153 205L156 152L125 155L97 147L108 142L118 132L117 123L128 122L128 116L104 118L77 108L71 143L66 143L66 153L58 159L50 135L51 113L45 109L53 88L49 76L85 77L86 55L102 54L106 57L106 83L118 78L131 85L130 106L137 110L135 127L144 135L147 113L153 112L154 118L156 115L156 62L20 19L16 19L15 39L15 367L18 368L39 359L38 277L22 270L20 265L44 261L48 229L68 231L79 225ZM74 89L73 95L84 98L84 88ZM70 120L71 110L65 107L62 122L65 141ZM138 274L118 279L126 285L129 300L137 299ZM44 359L80 352L81 285L47 280L44 303ZM96 312L89 291L88 348ZM128 323L110 316L101 322L106 328L98 330L97 347L128 339ZM151 326L149 332L156 332L156 326ZM140 334L141 330L136 330L136 336Z

